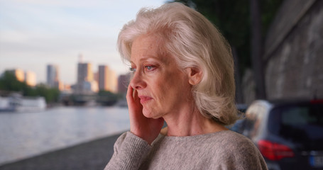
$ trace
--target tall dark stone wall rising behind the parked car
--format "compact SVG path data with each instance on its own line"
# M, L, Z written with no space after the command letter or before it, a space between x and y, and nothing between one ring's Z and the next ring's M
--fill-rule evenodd
M323 1L285 0L263 58L268 99L323 98Z

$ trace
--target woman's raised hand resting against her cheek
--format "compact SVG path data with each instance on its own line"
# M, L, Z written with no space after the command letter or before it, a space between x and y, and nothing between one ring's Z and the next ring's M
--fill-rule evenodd
M143 106L140 103L140 98L138 98L138 92L130 85L128 86L126 99L129 109L130 131L146 140L150 145L158 137L161 128L163 128L164 119L146 118L143 115Z

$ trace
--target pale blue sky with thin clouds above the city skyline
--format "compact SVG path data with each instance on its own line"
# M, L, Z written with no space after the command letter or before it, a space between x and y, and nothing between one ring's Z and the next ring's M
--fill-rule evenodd
M116 50L119 30L142 7L165 0L0 0L0 74L22 69L45 83L47 64L56 64L64 84L75 84L77 62L128 72Z

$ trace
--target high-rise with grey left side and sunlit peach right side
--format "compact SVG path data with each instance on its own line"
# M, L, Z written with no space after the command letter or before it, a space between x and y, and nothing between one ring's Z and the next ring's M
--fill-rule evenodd
M99 90L116 93L116 74L106 65L99 65Z

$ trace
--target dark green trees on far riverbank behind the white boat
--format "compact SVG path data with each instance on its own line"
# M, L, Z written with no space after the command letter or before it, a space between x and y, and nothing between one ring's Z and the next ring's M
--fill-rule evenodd
M21 82L16 79L16 76L11 72L4 72L0 78L1 91L18 91L23 96L43 96L47 103L58 101L60 91L58 89L51 89L44 84L35 87L28 86L26 82Z

